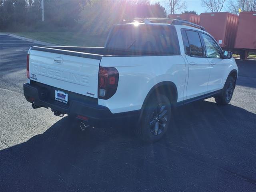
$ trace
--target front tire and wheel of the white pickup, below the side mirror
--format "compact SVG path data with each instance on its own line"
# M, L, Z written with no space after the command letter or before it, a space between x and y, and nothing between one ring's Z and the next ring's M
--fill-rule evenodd
M228 79L226 80L226 83L224 85L224 88L222 89L222 92L220 93L220 95L215 97L216 103L221 105L229 104L233 96L234 88L235 88L234 77L228 76Z

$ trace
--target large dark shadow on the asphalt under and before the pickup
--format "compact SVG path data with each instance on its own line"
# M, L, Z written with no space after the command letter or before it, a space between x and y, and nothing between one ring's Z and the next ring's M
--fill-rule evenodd
M0 188L205 191L214 190L216 183L218 189L228 184L233 191L255 187L255 114L231 104L199 101L176 109L172 118L167 136L155 144L135 138L129 121L82 131L69 117L62 118L43 134L0 151Z

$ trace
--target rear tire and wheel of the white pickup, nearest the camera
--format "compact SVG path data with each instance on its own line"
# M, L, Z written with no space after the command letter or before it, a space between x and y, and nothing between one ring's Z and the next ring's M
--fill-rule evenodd
M146 102L136 127L136 135L146 142L160 140L170 123L171 104L162 94L154 95Z

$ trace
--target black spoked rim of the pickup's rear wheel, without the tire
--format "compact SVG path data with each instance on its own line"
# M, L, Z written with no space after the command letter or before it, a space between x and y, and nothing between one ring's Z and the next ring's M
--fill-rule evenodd
M153 135L159 135L164 131L168 121L168 109L165 104L158 104L150 118L149 127Z

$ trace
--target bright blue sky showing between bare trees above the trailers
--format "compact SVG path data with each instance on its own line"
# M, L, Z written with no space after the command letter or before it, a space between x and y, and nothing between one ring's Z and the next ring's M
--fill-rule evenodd
M186 2L186 5L187 5L186 10L188 10L188 11L195 10L198 13L198 15L200 13L206 12L206 8L203 8L201 6L201 0L181 0L181 1ZM164 6L164 7L166 6L165 0L152 0L151 2L152 3L160 2L160 4L162 6ZM226 2L224 3L224 7L225 7L225 4L226 4ZM222 9L222 11L224 11L224 8ZM181 11L177 11L176 13L181 13Z

